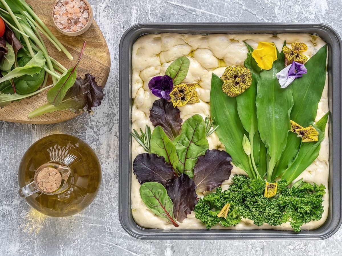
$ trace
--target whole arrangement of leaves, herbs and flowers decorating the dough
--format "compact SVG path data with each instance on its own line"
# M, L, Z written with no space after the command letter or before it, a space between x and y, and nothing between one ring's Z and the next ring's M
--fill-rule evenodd
M325 86L327 46L307 60L304 43L290 48L284 42L280 52L271 42L259 42L257 49L244 43L244 67L227 67L222 77L212 74L211 117L205 120L180 117L179 106L199 102L196 86L182 83L186 57L151 79L149 89L161 99L150 109L153 132L146 126L132 133L147 152L135 158L133 172L163 198L162 207L149 202L147 207L176 227L194 211L208 229L248 218L257 226L289 222L299 232L324 211L324 185L302 179L290 184L318 157L325 137L329 113L314 120ZM212 133L225 151L209 150ZM248 176L233 176L222 191L231 162ZM197 198L196 192L212 190ZM145 202L149 196L141 192L141 197Z

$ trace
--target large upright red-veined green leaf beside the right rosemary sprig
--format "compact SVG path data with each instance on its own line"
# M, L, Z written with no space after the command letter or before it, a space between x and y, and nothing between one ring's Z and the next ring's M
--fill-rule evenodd
M177 170L192 178L197 157L205 154L209 147L203 118L200 115L193 115L187 119L182 126L181 134L175 138L173 144L176 146L179 159Z

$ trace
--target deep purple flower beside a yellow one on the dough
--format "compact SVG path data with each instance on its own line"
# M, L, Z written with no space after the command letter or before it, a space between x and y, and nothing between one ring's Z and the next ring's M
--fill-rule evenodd
M155 76L149 81L148 88L154 96L170 100L170 93L173 89L172 78L168 75Z

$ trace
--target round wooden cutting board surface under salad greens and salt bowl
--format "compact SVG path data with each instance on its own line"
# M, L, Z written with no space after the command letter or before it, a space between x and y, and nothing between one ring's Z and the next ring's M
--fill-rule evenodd
M81 35L70 37L61 34L52 23L52 8L54 2L55 0L27 0L27 3L32 6L38 17L40 17L45 25L48 26L58 40L64 44L67 50L74 57L74 60L69 61L63 52L58 52L52 43L43 37L48 48L49 55L61 62L64 67L71 68L75 65L79 57L84 41L87 41L86 49L77 70L77 76L84 77L84 74L90 73L96 77L95 81L98 85L105 86L110 71L110 55L106 40L104 39L100 28L98 28L94 20L89 30ZM48 81L48 85L50 84L52 84L51 77ZM0 109L0 120L25 124L54 124L64 122L78 116L75 113L64 110L47 113L29 119L27 117L28 113L47 103L46 94L47 90L30 99L12 102L3 109ZM96 108L94 111L96 114Z

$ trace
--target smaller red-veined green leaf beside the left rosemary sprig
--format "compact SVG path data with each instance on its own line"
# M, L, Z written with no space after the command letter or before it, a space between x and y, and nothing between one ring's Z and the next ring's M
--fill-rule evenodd
M173 169L176 170L177 164L179 162L176 153L176 147L166 136L165 132L160 126L157 126L153 130L150 145L151 153L164 157L165 161L170 163Z

